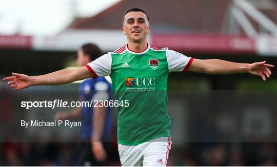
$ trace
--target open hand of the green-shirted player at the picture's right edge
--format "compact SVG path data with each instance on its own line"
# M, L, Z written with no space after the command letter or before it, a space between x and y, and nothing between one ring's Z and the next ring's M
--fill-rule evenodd
M273 67L273 65L266 64L266 61L254 62L249 66L249 73L259 75L263 78L263 80L266 80L266 77L270 78L271 75L269 68Z

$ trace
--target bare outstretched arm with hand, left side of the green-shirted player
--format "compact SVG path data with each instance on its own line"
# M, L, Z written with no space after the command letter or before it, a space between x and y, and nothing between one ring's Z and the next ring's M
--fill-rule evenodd
M76 69L64 69L45 75L28 76L25 74L12 73L13 76L4 78L9 80L8 84L15 90L21 90L35 85L62 85L75 80L82 80L93 77L86 67Z

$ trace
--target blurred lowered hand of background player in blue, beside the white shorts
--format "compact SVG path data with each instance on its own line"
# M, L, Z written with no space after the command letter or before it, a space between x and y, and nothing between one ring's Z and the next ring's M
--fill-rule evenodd
M104 161L106 160L107 156L106 156L106 151L103 147L103 143L101 141L92 141L91 142L91 146L92 146L92 153L94 155L94 158L97 161Z

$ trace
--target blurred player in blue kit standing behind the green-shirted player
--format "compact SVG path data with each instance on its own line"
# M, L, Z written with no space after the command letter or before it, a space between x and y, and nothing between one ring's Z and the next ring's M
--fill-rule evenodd
M94 44L85 44L77 52L77 64L86 66L89 62L102 55L102 51ZM104 78L88 78L79 88L80 101L109 100L111 84ZM105 165L109 142L111 138L111 108L110 107L78 107L69 112L57 112L56 120L82 119L82 143L79 151L79 165ZM106 142L102 142L106 141ZM89 142L90 141L90 142ZM105 148L105 149L104 149Z

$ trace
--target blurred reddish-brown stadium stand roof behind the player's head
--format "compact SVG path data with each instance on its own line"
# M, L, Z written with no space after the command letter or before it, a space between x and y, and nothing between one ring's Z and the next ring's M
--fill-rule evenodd
M277 1L247 1L273 23L277 23ZM92 17L77 17L69 29L121 29L123 13L133 7L146 10L150 17L152 33L229 33L230 8L234 1L120 1ZM197 12L196 12L197 11ZM256 21L246 16L256 30ZM240 34L245 32L239 28ZM238 32L236 32L238 34Z

